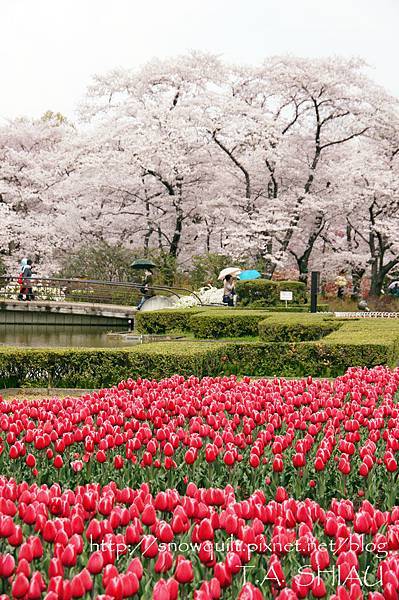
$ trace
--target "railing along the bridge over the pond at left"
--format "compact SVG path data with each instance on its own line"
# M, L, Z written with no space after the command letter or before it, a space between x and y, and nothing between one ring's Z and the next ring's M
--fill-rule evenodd
M21 285L17 276L0 277L0 300L18 300ZM117 304L135 306L143 296L141 283L96 281L92 279L60 279L33 276L30 280L34 299L53 302L91 302L93 304ZM180 298L193 295L202 304L200 297L187 288L151 285L152 296L168 295Z

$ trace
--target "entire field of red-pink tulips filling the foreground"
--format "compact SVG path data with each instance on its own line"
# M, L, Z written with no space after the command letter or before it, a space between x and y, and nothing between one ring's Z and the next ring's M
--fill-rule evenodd
M375 367L0 399L0 600L398 599L398 387Z

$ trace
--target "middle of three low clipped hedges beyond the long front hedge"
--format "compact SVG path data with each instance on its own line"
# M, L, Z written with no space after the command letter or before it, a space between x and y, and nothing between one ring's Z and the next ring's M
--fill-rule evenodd
M258 324L265 311L223 311L199 313L190 317L190 331L196 338L218 339L258 335Z

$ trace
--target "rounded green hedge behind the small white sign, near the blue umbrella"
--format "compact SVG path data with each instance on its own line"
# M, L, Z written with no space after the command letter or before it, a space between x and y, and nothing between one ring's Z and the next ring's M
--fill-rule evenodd
M280 292L293 292L293 302L301 305L307 301L306 285L300 281L273 281L269 279L256 279L255 281L242 281L236 285L239 302L243 306L256 306L257 308L276 306L281 304Z

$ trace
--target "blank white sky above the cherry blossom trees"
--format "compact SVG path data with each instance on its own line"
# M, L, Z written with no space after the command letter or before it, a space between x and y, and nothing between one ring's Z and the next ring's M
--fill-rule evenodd
M0 0L1 120L74 116L91 75L189 50L361 56L399 96L399 0Z

